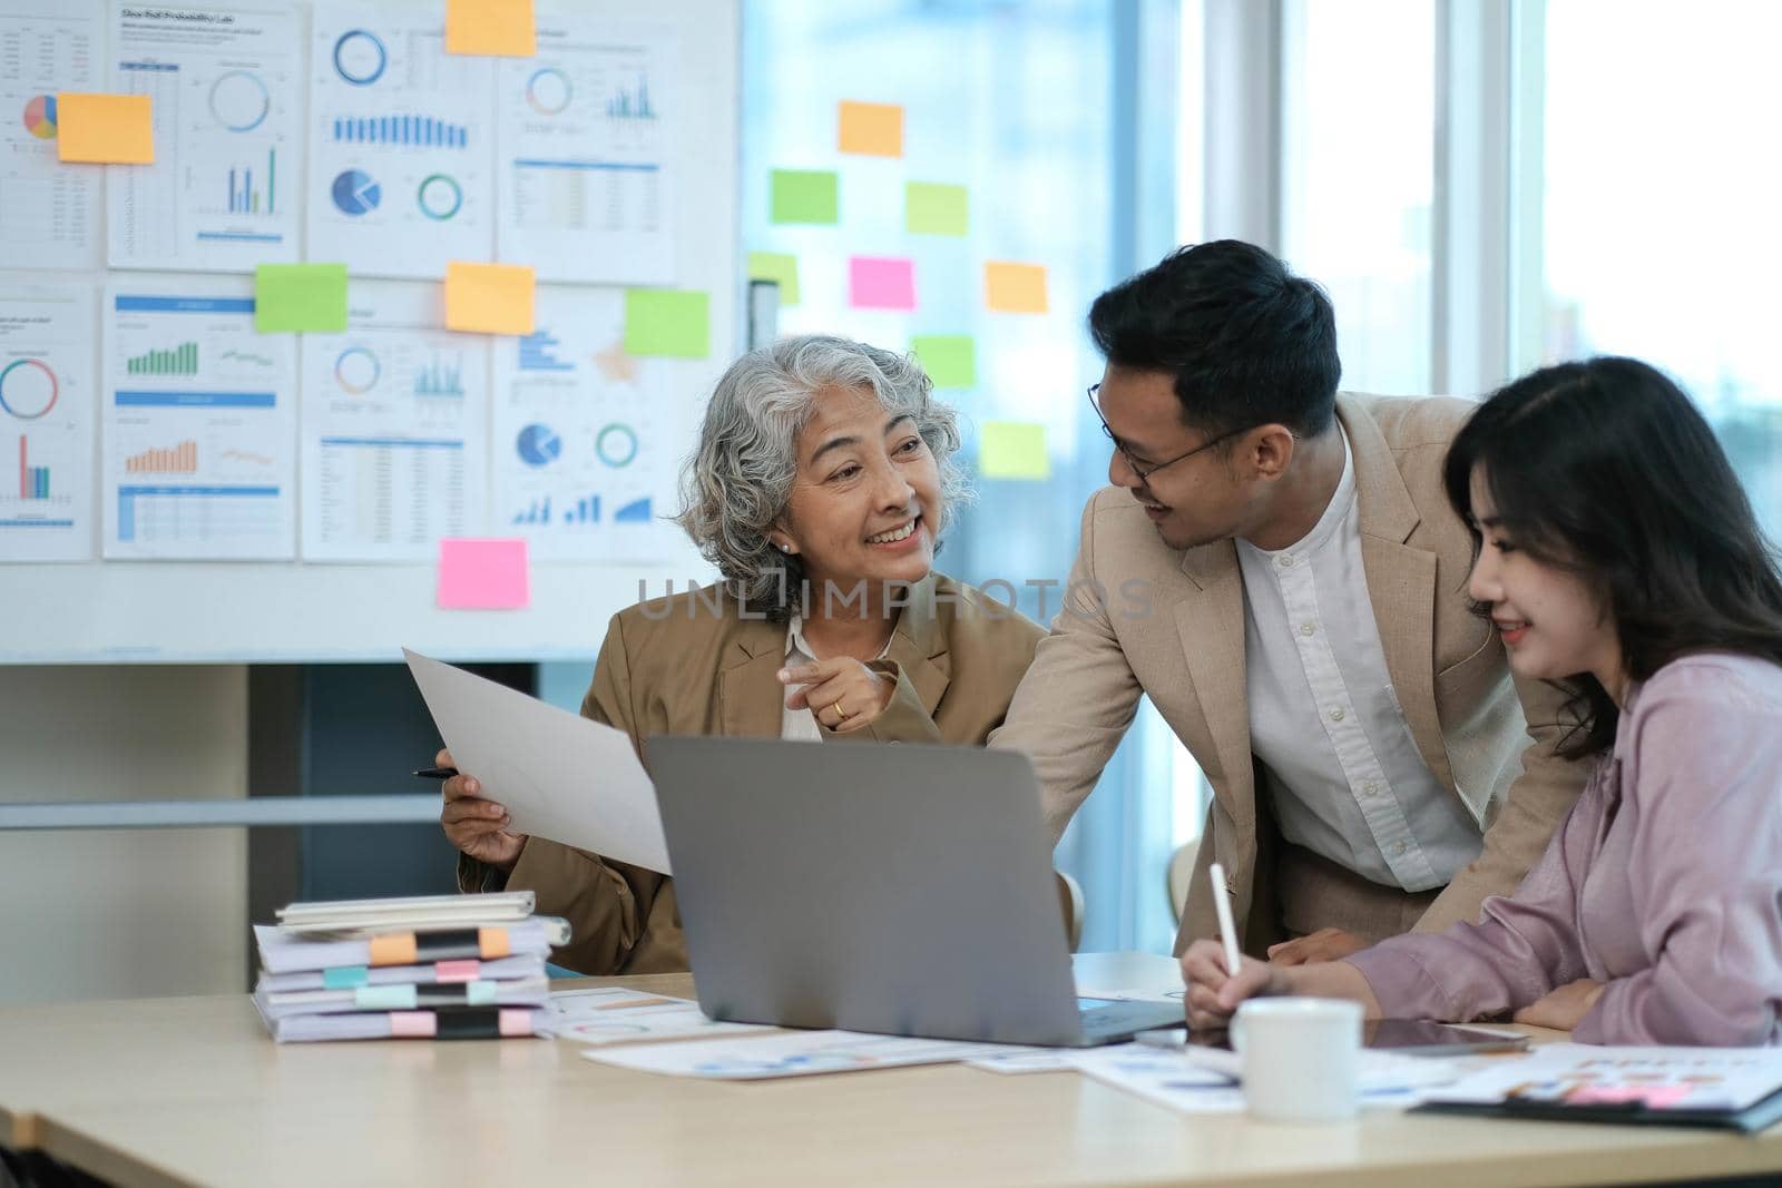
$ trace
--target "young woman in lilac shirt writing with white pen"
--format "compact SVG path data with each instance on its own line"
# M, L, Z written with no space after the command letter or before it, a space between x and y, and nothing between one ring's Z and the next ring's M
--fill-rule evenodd
M1645 363L1565 363L1486 401L1445 477L1472 597L1518 675L1574 693L1590 785L1477 923L1235 976L1194 942L1189 1021L1308 994L1591 1044L1782 1042L1782 577L1707 422Z

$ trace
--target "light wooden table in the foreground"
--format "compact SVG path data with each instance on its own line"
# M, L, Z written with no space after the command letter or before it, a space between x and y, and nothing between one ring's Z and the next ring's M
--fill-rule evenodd
M1085 987L1149 985L1139 955ZM602 980L691 996L686 974ZM592 983L590 983L592 985ZM0 1008L0 1142L166 1184L1600 1184L1782 1170L1782 1127L1363 1113L1185 1117L1083 1076L959 1065L764 1083L545 1040L274 1046L246 996Z

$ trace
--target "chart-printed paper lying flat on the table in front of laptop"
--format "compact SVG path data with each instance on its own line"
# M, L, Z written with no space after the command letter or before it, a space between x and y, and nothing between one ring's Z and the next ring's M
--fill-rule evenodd
M868 1069L950 1063L987 1056L998 1047L1001 1046L912 1040L857 1031L775 1031L736 1040L640 1044L583 1054L604 1065L638 1072L697 1076L715 1081L763 1081L820 1072L866 1072Z

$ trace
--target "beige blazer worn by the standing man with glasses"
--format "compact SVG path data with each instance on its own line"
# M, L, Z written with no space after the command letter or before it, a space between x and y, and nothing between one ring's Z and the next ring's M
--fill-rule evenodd
M1502 641L1470 609L1472 536L1449 508L1442 460L1474 408L1447 397L1336 397L1386 668L1418 753L1483 839L1479 858L1435 899L1418 930L1474 919L1486 896L1515 891L1588 775L1586 764L1552 753L1565 696L1540 682L1513 684ZM1178 951L1217 935L1206 889L1214 860L1226 869L1246 951L1281 939L1267 869L1278 839L1269 814L1258 812L1244 680L1235 543L1169 549L1130 492L1098 492L1083 511L1066 609L991 745L1032 757L1046 819L1062 835L1139 695L1151 698L1214 791Z

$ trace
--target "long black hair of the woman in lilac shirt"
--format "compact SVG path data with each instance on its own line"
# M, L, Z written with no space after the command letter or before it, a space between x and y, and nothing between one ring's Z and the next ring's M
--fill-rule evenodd
M1782 663L1777 554L1714 431L1659 370L1631 358L1561 363L1481 404L1443 465L1475 549L1479 465L1504 534L1602 598L1631 679L1689 652ZM1620 711L1602 684L1590 673L1557 684L1577 714L1559 753L1613 746Z

